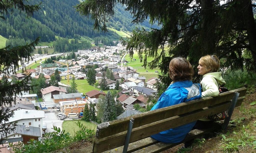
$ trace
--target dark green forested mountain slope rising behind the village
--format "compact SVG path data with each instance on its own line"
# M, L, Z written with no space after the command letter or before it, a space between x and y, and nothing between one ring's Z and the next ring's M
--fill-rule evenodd
M41 9L36 11L33 17L26 17L24 12L13 11L6 16L6 20L0 20L0 35L8 38L10 35L28 40L35 40L40 36L42 42L55 41L55 35L63 38L74 38L74 35L88 36L91 38L105 37L110 40L119 39L115 32L101 32L93 29L93 21L89 17L81 16L76 12L76 0L31 0L29 4L39 4ZM124 10L124 7L115 7L114 18L110 20L110 27L120 31L132 31L136 26L146 29L150 28L148 22L141 25L131 23L132 16ZM154 25L154 27L156 27Z

